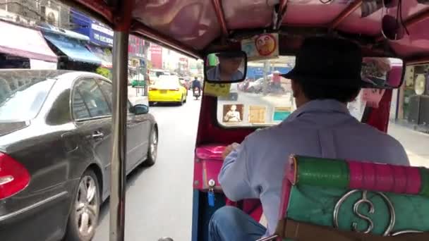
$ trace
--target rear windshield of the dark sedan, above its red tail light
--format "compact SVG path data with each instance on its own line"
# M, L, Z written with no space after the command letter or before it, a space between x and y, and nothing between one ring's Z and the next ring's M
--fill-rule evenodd
M54 82L43 78L0 78L0 121L35 118Z

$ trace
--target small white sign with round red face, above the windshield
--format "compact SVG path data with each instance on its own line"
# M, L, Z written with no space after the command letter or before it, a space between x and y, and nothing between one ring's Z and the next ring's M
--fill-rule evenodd
M241 50L247 54L248 61L255 61L279 56L279 35L262 34L241 40Z

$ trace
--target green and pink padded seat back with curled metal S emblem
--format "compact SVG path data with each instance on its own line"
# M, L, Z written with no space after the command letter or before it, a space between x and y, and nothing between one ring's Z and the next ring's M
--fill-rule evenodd
M306 156L286 167L279 220L392 236L428 232L428 214L426 168Z

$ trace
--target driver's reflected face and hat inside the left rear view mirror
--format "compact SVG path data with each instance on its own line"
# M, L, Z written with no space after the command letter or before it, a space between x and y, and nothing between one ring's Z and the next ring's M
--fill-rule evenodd
M222 52L216 54L219 63L216 67L207 71L207 80L242 80L243 73L238 68L243 62L243 56L236 52Z

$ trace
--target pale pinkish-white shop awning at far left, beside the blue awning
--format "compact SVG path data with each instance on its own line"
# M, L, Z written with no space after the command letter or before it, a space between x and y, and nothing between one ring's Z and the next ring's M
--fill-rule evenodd
M49 48L40 31L0 21L3 35L0 37L0 53L32 58L47 62L57 62L57 57Z

